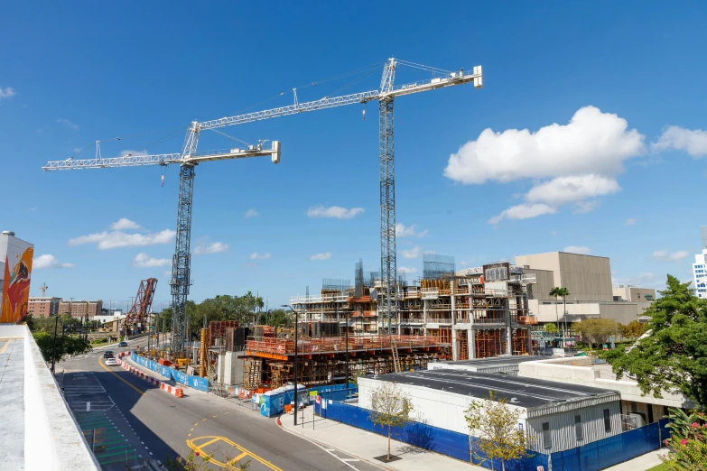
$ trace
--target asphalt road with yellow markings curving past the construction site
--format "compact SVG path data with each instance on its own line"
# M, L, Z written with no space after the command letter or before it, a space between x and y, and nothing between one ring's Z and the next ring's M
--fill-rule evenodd
M145 342L132 341L130 347ZM99 430L96 456L107 471L151 457L164 463L168 455L187 456L190 445L202 455L213 454L213 469L222 467L218 463L247 461L251 471L379 469L301 439L281 429L274 419L233 402L202 392L177 398L160 391L120 366L102 365L105 349L126 350L108 346L61 366L66 370L65 386L71 386L65 392L67 401L89 443L93 429Z

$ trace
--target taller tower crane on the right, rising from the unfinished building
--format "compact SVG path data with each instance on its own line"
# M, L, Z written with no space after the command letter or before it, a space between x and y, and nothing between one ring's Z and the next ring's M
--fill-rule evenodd
M395 86L395 69L398 65L422 69L433 74L433 78ZM293 89L294 104L279 108L256 111L246 115L222 117L203 123L193 123L190 134L198 138L200 131L216 129L229 125L243 125L254 121L262 121L274 117L296 115L308 111L333 108L336 106L366 104L378 101L378 139L379 139L379 180L380 180L380 274L382 300L378 304L378 312L387 320L387 332L394 333L397 326L397 304L395 290L397 283L397 263L395 254L395 145L393 138L393 102L395 97L412 95L436 88L453 87L466 83L474 84L474 88L483 87L483 71L476 66L471 73L460 69L456 72L416 64L406 60L390 58L383 67L380 89L344 95L341 97L323 97L319 100L300 103L297 101L297 90ZM363 111L364 120L366 110ZM189 142L190 137L187 137Z

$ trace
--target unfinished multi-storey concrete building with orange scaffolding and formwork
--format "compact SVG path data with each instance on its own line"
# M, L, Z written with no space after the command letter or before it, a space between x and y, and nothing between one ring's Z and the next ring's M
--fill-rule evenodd
M378 316L381 282L360 261L353 284L324 280L318 295L292 298L299 319L298 383L343 383L347 351L349 378L425 368L438 359L530 352L529 328L537 322L528 313L527 286L535 275L507 262L457 272L453 258L440 255L425 255L423 267L414 283L398 280L393 318ZM293 382L293 326L256 327L252 334L243 352L244 387Z

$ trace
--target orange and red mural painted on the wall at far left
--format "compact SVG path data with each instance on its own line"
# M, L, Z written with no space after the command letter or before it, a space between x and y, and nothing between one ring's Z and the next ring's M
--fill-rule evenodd
M3 311L0 322L17 322L27 314L32 276L32 245L7 246L5 280L3 281Z

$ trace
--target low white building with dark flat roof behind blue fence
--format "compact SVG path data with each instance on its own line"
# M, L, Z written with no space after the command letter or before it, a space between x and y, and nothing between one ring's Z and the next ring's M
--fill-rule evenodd
M371 409L383 382L397 383L411 398L414 420L470 434L464 411L493 391L519 409L518 427L529 448L549 454L621 433L619 392L520 376L460 370L428 370L358 378L358 406ZM475 434L471 433L472 436Z

